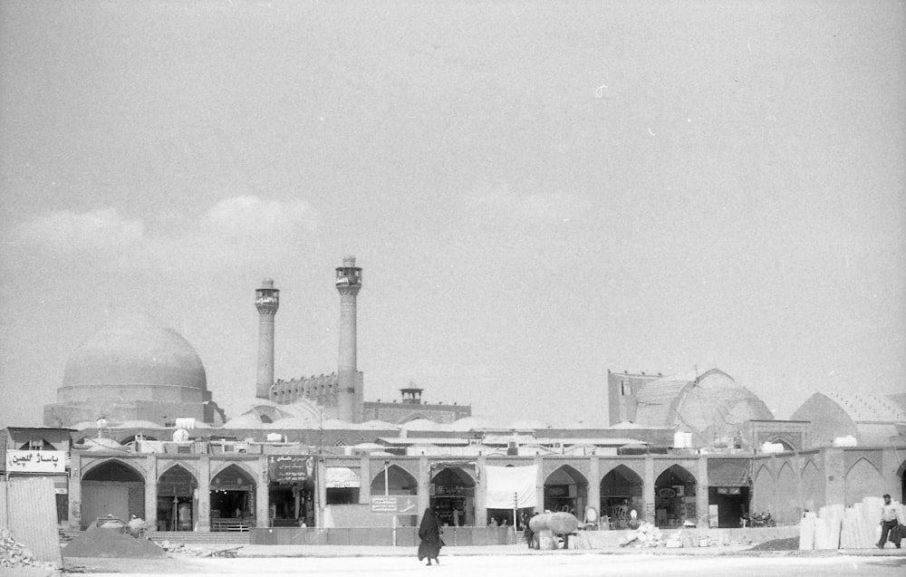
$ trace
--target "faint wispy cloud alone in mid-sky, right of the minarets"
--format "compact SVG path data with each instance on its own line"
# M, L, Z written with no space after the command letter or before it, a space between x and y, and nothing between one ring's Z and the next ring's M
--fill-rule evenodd
M582 214L583 202L576 195L541 192L520 195L506 184L483 186L462 199L462 205L476 214L505 217L515 225L540 225L572 220Z

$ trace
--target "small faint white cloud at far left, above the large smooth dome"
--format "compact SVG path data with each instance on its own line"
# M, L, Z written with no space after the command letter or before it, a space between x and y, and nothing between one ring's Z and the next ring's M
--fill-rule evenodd
M73 253L140 243L145 226L121 217L112 208L85 213L69 210L40 216L14 226L13 241L41 245L54 252Z

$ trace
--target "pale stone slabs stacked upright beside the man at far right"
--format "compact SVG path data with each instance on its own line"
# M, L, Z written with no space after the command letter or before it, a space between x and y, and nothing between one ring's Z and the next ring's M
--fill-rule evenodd
M844 508L825 505L818 514L807 512L799 524L799 549L870 549L877 543L881 523L881 497L863 497L862 503ZM903 505L901 519L906 518Z

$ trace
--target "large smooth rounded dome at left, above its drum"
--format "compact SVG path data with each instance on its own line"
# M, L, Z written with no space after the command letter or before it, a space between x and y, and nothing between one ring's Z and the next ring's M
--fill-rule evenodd
M171 385L207 390L198 353L178 332L144 314L120 316L72 353L64 387Z

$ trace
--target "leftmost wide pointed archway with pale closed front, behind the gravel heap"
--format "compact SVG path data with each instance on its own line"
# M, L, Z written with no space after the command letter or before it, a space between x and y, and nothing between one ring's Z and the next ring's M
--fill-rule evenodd
M129 521L145 518L145 479L135 468L117 460L93 466L82 475L82 529L102 517Z

